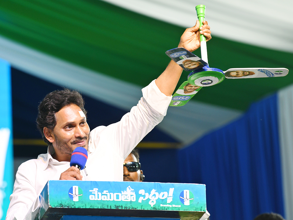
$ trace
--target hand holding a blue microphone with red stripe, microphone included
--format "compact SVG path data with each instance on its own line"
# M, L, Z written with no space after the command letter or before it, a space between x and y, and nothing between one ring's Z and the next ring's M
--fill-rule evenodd
M71 154L70 168L61 173L59 180L82 180L80 170L83 170L88 159L88 152L83 147L77 147Z

